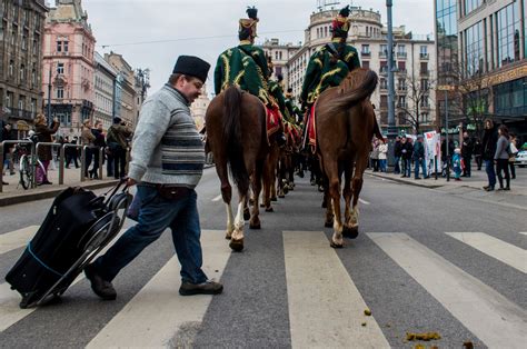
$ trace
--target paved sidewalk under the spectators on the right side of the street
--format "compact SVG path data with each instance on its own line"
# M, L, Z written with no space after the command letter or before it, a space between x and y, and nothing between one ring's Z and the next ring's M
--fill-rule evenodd
M414 172L410 178L401 178L401 174L394 174L391 172L374 172L369 169L366 170L366 173L408 186L436 189L451 195L458 195L487 202L501 203L505 206L527 210L527 168L516 167L516 179L510 180L510 191L485 191L483 187L487 186L488 181L487 173L485 172L484 168L480 171L478 171L476 168L473 168L471 177L461 177L461 181L455 181L454 176L450 177L450 181L447 181L446 178L440 176L438 176L437 180L434 178L434 176L428 179L415 180ZM496 189L497 188L499 188L499 182L496 183Z

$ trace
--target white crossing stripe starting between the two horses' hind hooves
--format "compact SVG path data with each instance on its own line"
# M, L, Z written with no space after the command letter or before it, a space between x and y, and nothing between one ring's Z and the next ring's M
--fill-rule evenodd
M389 348L321 231L284 231L292 348ZM361 326L367 322L367 326Z

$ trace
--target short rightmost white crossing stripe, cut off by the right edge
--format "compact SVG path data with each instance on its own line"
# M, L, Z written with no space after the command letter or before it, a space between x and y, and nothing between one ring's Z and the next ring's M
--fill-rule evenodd
M445 232L497 260L527 273L527 251L483 232Z

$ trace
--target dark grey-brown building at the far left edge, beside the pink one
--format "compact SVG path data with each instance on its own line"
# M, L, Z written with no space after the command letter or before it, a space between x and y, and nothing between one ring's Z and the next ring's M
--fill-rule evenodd
M0 1L0 118L27 131L42 110L43 0Z

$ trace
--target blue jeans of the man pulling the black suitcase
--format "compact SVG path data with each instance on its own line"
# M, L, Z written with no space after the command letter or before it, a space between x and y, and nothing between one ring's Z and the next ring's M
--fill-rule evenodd
M159 196L155 187L139 185L137 195L141 201L138 223L128 229L117 242L95 261L97 272L107 281L131 262L147 246L156 241L165 229L172 230L172 241L181 265L181 280L201 283L207 276L201 270L201 228L197 207L197 193L191 191L178 200Z

